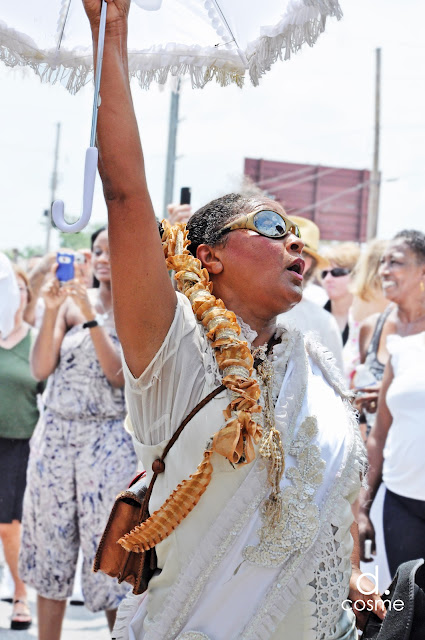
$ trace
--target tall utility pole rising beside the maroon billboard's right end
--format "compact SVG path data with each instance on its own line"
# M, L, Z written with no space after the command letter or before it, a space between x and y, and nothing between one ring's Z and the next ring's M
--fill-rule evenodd
M369 202L367 212L367 239L376 238L379 213L379 190L381 175L379 172L379 138L381 132L381 49L376 49L375 75L375 143L373 149L373 166L369 185Z

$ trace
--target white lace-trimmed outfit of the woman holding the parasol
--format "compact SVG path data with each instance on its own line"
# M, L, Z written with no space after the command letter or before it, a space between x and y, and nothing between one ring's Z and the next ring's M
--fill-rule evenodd
M221 384L213 350L189 301L181 294L177 297L168 335L139 379L124 362L128 429L148 482L153 460L184 417ZM291 334L287 336L290 344ZM246 327L244 337L254 337L247 335ZM356 436L343 401L326 379L327 367L323 373L307 356L300 334L294 334L292 344L287 370L284 341L274 347L272 357L276 426L286 448L281 487L288 513L276 540L281 561L272 566L256 553L262 526L259 507L269 492L264 465L257 456L255 462L235 469L213 454L208 490L156 546L161 573L152 578L147 593L124 601L114 631L117 639L355 637L353 617L342 610L341 602L351 574L349 503L359 489ZM225 390L187 425L167 457L166 472L158 476L151 513L195 471L208 438L223 425L228 402ZM317 427L304 433L311 421ZM320 455L323 480L316 462ZM292 501L306 509L294 511Z

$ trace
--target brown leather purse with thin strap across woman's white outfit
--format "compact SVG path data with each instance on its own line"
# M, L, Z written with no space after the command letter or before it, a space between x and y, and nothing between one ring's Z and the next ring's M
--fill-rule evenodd
M146 591L149 580L157 569L155 547L136 553L126 551L117 541L149 518L149 499L158 475L165 469L164 459L167 453L188 422L225 388L222 384L214 389L186 416L168 442L162 456L152 463L154 473L149 487L144 482L146 472L143 472L136 476L126 491L118 494L96 551L93 571L102 571L112 578L117 578L120 583L128 582L136 595Z

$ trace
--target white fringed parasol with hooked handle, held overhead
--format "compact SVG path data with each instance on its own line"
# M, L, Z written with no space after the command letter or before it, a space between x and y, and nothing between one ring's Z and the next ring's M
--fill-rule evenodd
M303 44L312 46L328 16L341 17L337 0L133 0L129 19L129 71L143 88L171 76L189 76L202 88L257 85L277 59L288 59ZM107 5L102 2L103 18ZM93 78L91 33L81 0L0 0L0 60L28 66L46 82L61 82L76 93ZM99 37L90 147L86 153L83 213L69 225L63 203L52 216L62 231L88 222L97 165L95 134L101 58Z

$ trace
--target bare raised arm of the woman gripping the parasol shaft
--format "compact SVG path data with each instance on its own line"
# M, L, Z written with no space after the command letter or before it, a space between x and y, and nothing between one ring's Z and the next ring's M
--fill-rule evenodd
M96 55L101 0L83 2ZM97 146L109 217L116 328L126 362L138 377L167 334L176 294L165 267L131 98L129 7L130 0L108 0Z

